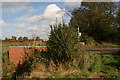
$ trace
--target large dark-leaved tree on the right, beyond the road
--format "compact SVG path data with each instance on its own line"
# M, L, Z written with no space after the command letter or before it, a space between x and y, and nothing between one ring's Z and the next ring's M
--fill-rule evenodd
M82 2L72 11L70 25L98 42L111 41L117 31L117 8L114 2Z

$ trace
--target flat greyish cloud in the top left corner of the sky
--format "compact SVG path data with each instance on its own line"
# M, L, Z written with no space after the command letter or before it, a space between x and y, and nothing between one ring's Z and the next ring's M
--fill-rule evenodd
M0 9L12 13L34 11L32 6L28 6L28 2L3 2L0 4Z

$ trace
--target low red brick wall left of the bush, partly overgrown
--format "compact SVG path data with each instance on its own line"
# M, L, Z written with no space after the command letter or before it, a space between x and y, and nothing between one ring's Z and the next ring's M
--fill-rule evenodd
M47 51L46 47L35 47L35 49L40 49L41 51ZM9 59L15 65L22 63L25 57L26 51L30 53L30 47L9 47Z

